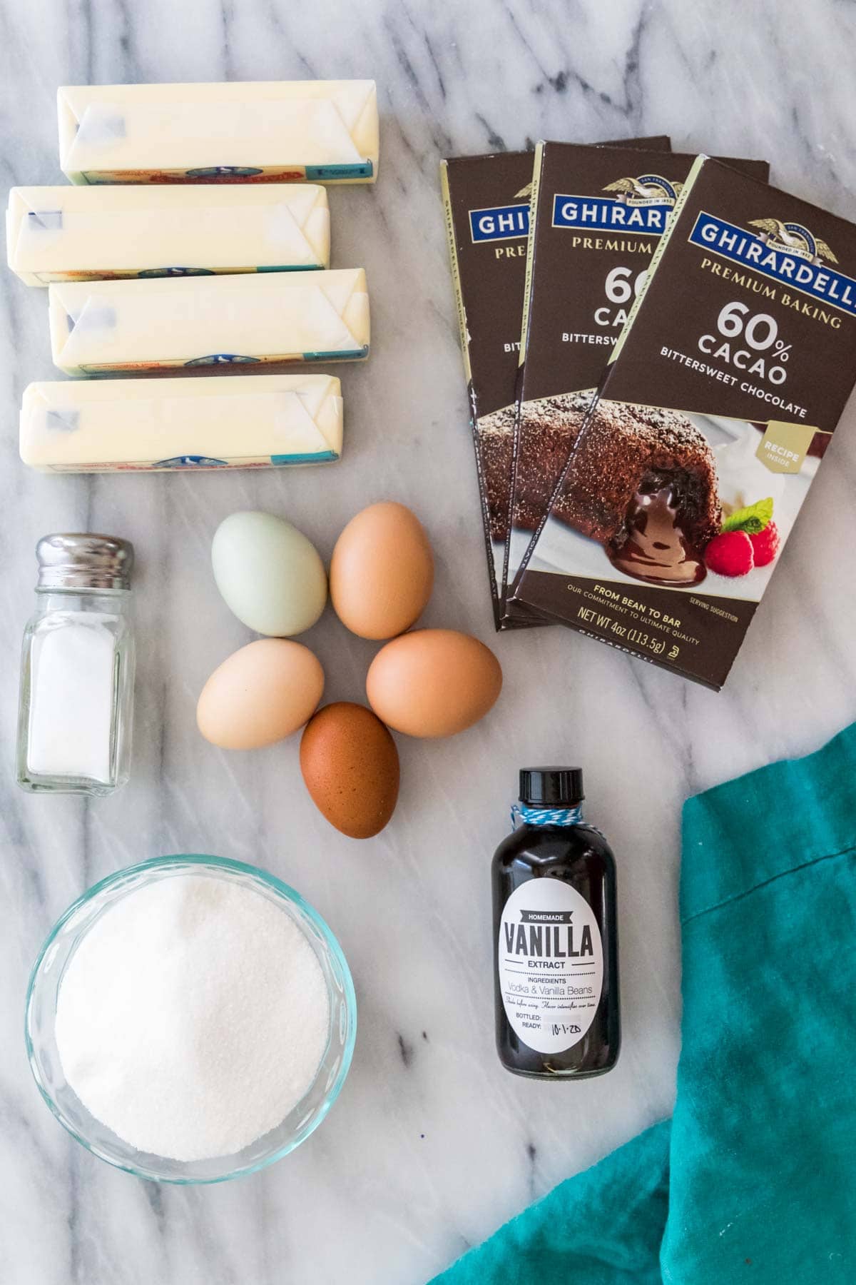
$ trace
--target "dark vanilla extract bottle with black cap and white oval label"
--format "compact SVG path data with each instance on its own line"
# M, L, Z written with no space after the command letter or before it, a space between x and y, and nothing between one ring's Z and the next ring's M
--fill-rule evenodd
M526 767L493 858L497 1051L517 1076L583 1079L621 1043L612 849L579 767Z

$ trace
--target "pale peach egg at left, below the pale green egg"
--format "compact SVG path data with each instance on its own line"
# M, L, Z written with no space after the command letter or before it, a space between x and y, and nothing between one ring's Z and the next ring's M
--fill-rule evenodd
M323 669L308 646L257 639L214 669L201 689L196 723L223 749L272 745L303 727L322 691Z

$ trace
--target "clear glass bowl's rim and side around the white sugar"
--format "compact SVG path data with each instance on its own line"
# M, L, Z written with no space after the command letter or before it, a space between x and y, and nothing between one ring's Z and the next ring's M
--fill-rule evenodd
M65 1081L55 1040L56 997L68 962L92 924L130 892L177 874L205 874L261 892L298 925L321 965L330 1001L327 1047L316 1077L276 1128L241 1151L190 1163L137 1151L83 1106ZM56 1119L92 1155L155 1182L225 1182L280 1160L318 1127L345 1082L357 1036L357 1001L339 942L321 915L287 884L241 861L223 857L157 857L119 870L83 893L58 920L33 965L27 989L24 1036L30 1068Z

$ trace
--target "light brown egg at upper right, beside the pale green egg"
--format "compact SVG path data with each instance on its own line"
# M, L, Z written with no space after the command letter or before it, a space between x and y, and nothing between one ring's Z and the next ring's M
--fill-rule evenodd
M403 634L425 610L434 558L422 523L403 504L372 504L352 518L330 563L336 616L362 639Z

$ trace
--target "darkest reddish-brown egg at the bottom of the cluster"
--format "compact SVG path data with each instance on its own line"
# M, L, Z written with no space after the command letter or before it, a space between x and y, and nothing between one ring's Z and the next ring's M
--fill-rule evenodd
M312 802L352 839L384 829L398 799L395 741L371 709L338 700L300 738L300 771Z

